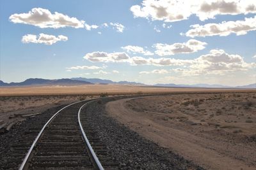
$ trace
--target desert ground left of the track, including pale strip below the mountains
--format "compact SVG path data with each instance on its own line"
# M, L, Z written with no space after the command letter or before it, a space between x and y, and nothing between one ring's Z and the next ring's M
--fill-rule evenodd
M215 92L220 89L207 89ZM225 89L230 90L230 89ZM173 92L204 92L205 89L143 87L134 85L54 85L0 87L0 127L24 120L24 115L42 113L53 106L83 99L129 94L157 94ZM240 90L239 90L240 91ZM244 90L241 90L244 91Z

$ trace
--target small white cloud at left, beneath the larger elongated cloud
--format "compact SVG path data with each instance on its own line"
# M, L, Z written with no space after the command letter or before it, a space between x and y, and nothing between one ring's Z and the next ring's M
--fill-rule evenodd
M48 34L39 34L39 37L33 34L26 34L22 36L22 43L44 43L45 45L52 45L57 41L67 41L67 36L52 36Z

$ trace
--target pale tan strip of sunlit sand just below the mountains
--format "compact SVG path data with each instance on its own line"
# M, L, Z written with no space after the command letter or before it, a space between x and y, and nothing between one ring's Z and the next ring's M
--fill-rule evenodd
M134 85L74 85L74 86L45 86L45 87L0 87L0 96L28 96L49 94L136 94L136 93L163 93L163 92L204 92L204 91L232 91L234 89L202 89L202 88L168 88L145 87ZM244 91L244 90L239 90Z

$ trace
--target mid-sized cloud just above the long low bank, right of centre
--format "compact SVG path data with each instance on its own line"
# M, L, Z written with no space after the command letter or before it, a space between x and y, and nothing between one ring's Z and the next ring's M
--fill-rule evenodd
M198 50L203 50L207 43L196 39L189 39L186 43L174 43L172 45L156 43L153 45L156 48L156 54L159 56L175 55L176 53L194 53Z

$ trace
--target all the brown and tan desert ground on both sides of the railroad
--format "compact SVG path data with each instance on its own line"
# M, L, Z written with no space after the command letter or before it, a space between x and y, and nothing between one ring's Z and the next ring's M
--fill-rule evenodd
M255 92L132 85L1 87L0 127L100 94L164 94L113 101L106 110L132 131L206 169L255 169Z

